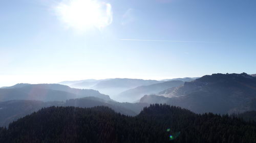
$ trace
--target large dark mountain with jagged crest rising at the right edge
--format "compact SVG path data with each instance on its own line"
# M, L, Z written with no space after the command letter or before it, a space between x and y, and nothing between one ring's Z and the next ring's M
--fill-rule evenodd
M198 113L256 110L256 78L246 73L205 75L158 96L144 96L140 101L177 105Z

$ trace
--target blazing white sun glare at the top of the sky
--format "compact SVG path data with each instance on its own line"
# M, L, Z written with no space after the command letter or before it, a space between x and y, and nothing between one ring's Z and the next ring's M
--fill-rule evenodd
M103 28L112 23L111 5L96 0L63 1L56 7L60 20L79 31Z

